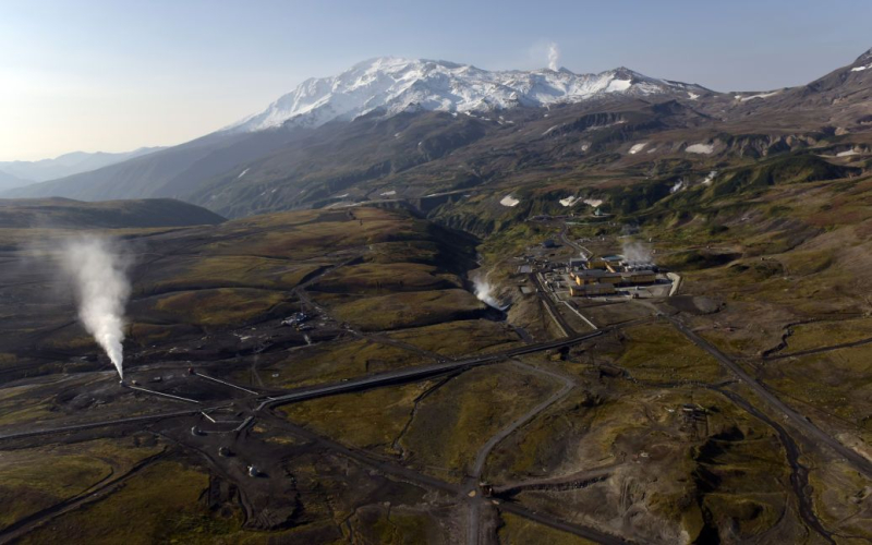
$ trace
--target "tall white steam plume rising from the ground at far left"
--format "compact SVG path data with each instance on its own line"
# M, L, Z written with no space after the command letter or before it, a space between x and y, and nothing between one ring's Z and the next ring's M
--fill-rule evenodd
M117 249L98 238L73 239L62 244L60 262L73 282L78 318L124 378L124 305L130 295L126 263Z

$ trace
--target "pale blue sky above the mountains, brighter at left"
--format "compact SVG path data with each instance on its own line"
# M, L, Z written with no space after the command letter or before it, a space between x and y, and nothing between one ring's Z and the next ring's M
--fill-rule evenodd
M379 56L626 65L717 90L808 83L872 47L872 2L0 0L0 160L179 144Z

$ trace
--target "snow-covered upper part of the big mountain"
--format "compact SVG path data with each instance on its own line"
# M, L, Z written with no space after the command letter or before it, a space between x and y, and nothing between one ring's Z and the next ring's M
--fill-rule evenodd
M447 61L378 58L355 64L334 77L310 78L265 111L231 125L231 131L261 131L290 122L319 126L383 110L482 112L514 106L579 102L606 94L631 96L711 93L699 85L656 80L619 68L600 74L566 69L492 72Z

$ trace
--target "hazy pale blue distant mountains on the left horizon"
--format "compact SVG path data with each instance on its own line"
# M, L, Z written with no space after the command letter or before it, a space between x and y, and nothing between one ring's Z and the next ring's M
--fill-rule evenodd
M141 147L133 152L107 154L102 152L73 152L53 159L38 161L0 161L0 189L17 187L34 182L45 182L80 172L97 170L109 165L141 157L162 149L160 147Z

